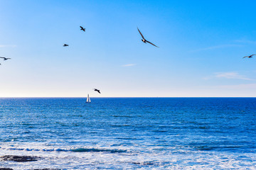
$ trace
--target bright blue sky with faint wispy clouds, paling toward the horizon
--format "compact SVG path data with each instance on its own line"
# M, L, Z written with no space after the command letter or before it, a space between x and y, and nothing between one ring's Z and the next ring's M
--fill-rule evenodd
M255 9L247 0L0 0L0 56L11 58L0 60L0 97L255 97L256 56L242 59L256 53Z

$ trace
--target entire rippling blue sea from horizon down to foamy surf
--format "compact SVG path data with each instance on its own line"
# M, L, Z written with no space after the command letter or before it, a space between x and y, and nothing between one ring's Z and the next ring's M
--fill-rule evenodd
M0 98L12 169L256 169L256 98Z

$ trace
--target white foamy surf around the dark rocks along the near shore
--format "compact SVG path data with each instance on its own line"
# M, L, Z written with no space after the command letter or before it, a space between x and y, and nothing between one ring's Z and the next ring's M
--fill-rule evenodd
M72 152L72 149L89 149ZM91 150L90 150L91 149ZM97 149L97 150L95 150ZM209 152L171 148L110 152L127 147L73 146L23 143L2 145L0 156L33 155L42 157L37 162L1 162L1 167L13 169L255 169L255 153Z

